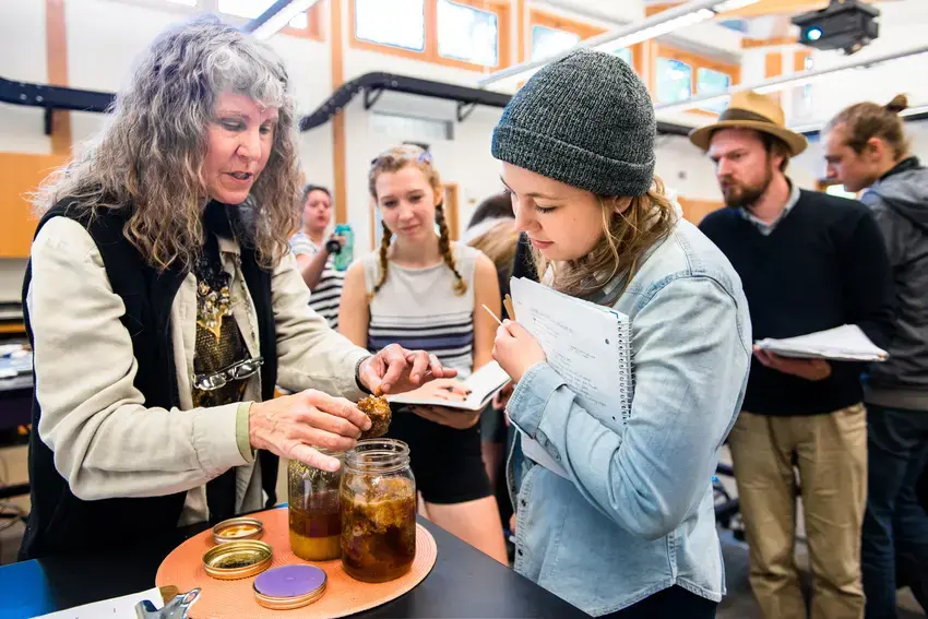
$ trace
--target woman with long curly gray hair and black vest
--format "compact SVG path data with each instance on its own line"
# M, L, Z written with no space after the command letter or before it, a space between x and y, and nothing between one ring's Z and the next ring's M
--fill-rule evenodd
M298 165L287 73L215 19L162 35L98 140L53 174L24 284L35 353L22 558L124 550L261 507L266 450L334 471L352 401L453 377L370 356L307 309L287 251ZM295 395L273 400L279 383ZM347 400L346 400L347 398Z

